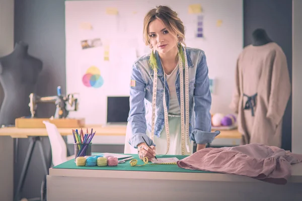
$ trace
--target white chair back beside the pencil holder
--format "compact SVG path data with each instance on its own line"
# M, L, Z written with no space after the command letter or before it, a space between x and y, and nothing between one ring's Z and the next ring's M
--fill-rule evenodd
M57 127L47 121L43 121L43 124L45 124L46 126L48 138L50 141L52 164L56 166L63 162L73 159L74 155L67 156L66 143L61 134L59 133Z

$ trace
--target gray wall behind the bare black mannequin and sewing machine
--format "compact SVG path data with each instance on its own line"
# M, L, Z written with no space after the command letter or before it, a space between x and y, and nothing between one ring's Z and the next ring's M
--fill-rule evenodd
M41 96L56 94L56 87L65 91L65 38L64 1L15 0L15 42L29 44L29 53L43 61L37 93ZM39 105L37 116L51 116L55 106ZM43 138L45 152L50 151L48 138ZM29 145L28 139L19 139L18 162L15 165L14 186L17 187L21 168ZM39 197L43 179L41 156L35 148L29 165L23 197Z

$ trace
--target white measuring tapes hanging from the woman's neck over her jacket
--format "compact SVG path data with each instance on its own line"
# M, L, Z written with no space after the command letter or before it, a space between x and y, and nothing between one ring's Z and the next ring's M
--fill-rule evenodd
M180 72L180 109L181 109L181 153L185 155L185 147L187 152L190 153L189 148L189 67L186 50L184 49L185 54L185 103L184 103L184 76L183 76L183 61L180 53L178 53L179 58L179 72ZM155 111L156 111L156 94L157 94L157 67L154 68L154 80L153 80L153 95L152 95L152 128L151 128L151 139L154 140L155 132ZM170 132L169 132L169 121L168 121L168 109L166 104L166 79L164 75L164 119L165 119L165 130L167 135L167 152L168 154L170 149ZM185 106L184 106L185 105ZM186 145L185 145L186 144Z

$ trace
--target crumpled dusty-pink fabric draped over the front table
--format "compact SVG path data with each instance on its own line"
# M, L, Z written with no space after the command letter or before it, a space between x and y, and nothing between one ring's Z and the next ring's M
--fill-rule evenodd
M286 184L291 164L302 161L302 154L262 144L206 148L195 152L177 165L185 169L249 176L270 183Z

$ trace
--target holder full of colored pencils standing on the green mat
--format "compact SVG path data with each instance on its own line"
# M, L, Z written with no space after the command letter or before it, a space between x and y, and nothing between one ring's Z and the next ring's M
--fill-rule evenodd
M91 133L87 132L84 134L83 129L78 132L78 129L72 129L72 135L74 140L74 161L79 156L91 156L91 146L92 146L92 138L96 132L93 132L91 129Z

